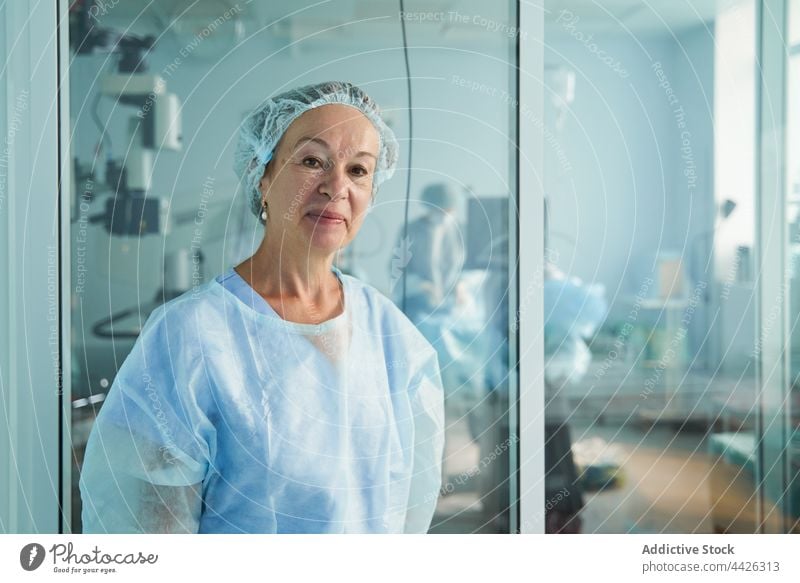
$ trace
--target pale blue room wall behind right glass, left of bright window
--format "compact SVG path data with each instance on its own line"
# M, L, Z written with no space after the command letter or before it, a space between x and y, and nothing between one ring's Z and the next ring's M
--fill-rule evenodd
M575 100L558 146L545 149L551 246L562 270L604 284L613 303L636 293L654 273L658 254L687 256L697 233L707 228L713 204L713 40L702 26L677 38L595 35L593 42L620 62L623 75L580 39L558 30L550 38L546 63L576 73ZM665 81L672 103L660 86ZM679 106L685 119L676 113ZM684 130L691 132L696 166L691 188L681 158ZM567 171L559 164L559 148L569 161ZM612 313L625 309L620 303Z

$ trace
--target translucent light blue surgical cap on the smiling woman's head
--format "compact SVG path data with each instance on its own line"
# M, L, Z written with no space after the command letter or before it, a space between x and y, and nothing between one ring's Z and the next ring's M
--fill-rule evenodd
M349 105L372 122L378 132L380 149L372 181L373 194L382 182L394 174L398 145L394 132L386 125L376 103L355 85L344 81L327 81L298 87L271 97L242 122L236 146L234 170L242 182L250 208L261 215L259 182L267 163L272 159L278 141L291 123L315 107L329 104Z

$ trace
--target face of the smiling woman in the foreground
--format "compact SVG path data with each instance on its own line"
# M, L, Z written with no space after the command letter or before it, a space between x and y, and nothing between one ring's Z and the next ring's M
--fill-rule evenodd
M372 198L378 148L372 122L347 105L292 122L260 184L267 232L282 236L283 252L332 254L353 240Z

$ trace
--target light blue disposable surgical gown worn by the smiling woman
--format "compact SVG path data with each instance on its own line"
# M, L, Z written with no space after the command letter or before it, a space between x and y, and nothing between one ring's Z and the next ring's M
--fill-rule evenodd
M281 319L230 270L158 308L81 471L84 532L426 532L441 486L435 350L334 269L344 312Z

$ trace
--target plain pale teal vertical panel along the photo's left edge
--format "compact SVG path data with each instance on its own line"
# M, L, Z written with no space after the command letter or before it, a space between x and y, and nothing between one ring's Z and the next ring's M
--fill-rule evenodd
M56 3L0 6L0 533L59 532L66 238ZM63 405L67 407L62 408Z

